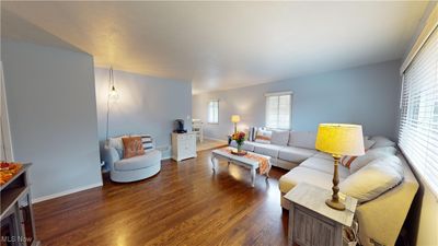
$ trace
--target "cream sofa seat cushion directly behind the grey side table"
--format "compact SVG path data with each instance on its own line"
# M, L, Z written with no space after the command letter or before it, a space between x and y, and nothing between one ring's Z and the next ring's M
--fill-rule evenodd
M299 183L308 183L323 189L330 189L333 186L332 179L333 175L331 174L298 166L283 175L278 183L280 191L287 194ZM343 178L339 177L339 180L343 180Z

